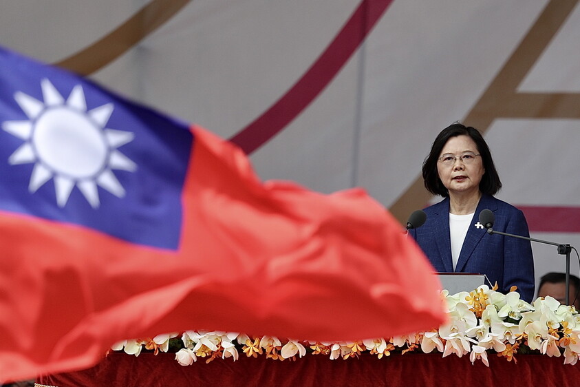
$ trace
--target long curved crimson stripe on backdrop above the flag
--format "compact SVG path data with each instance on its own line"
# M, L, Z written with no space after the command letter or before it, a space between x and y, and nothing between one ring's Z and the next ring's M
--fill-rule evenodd
M264 145L314 101L363 43L392 0L363 0L310 69L253 123L230 141L246 154Z

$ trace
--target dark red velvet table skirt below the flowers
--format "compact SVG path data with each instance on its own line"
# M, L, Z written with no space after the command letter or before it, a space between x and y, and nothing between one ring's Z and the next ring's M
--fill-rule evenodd
M580 386L580 363L563 364L563 357L516 355L517 364L495 354L490 367L469 356L407 353L378 359L363 353L358 359L331 360L306 355L295 362L253 358L198 359L180 366L175 354L142 353L139 357L111 353L88 370L39 377L45 386Z

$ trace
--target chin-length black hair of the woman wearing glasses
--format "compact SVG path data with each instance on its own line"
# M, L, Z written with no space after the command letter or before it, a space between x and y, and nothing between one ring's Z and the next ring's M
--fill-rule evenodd
M453 123L449 125L443 129L438 134L435 141L433 141L431 151L427 158L425 158L425 161L423 161L422 173L425 188L427 188L427 191L433 193L433 195L443 196L444 198L449 196L449 191L445 188L439 178L437 161L441 156L443 147L447 144L447 141L449 141L449 138L462 135L469 136L473 140L483 161L485 173L480 181L480 191L488 195L495 195L495 193L500 191L502 188L502 182L500 180L500 175L497 174L497 170L493 164L491 151L479 130L475 129L475 127L465 126L461 123Z

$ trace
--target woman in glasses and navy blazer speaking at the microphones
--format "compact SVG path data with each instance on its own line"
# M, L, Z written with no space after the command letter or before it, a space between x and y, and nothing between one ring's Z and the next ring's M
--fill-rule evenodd
M485 274L498 291L517 286L522 300L534 296L530 241L488 234L479 214L490 209L493 229L529 236L524 213L493 197L502 188L491 152L477 129L460 123L437 136L422 167L425 187L444 199L425 209L427 221L411 235L438 272Z

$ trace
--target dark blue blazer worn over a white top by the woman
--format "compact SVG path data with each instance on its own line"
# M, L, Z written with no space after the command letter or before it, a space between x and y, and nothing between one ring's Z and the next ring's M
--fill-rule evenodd
M490 209L495 216L493 229L530 236L524 213L493 196L483 195L465 236L455 272L485 274L498 291L508 293L517 286L522 300L534 297L535 277L532 246L528 240L489 234L479 223L480 212ZM449 233L449 198L427 207L427 221L409 233L418 242L438 272L453 272Z

